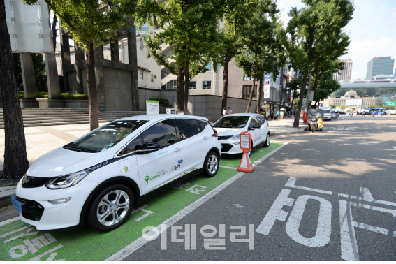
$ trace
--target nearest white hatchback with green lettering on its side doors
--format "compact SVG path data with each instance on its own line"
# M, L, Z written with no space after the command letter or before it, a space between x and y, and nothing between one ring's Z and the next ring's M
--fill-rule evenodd
M37 230L84 223L110 231L133 205L187 177L216 175L221 154L205 117L140 115L118 119L31 164L11 197Z

